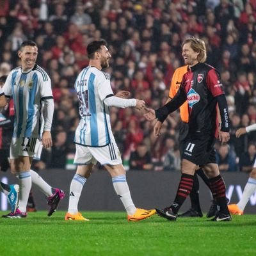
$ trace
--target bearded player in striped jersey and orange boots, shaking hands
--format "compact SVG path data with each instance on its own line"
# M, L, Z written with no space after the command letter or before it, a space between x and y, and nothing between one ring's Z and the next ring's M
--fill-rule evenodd
M77 171L70 184L65 220L87 220L77 210L77 204L93 165L99 161L112 177L114 189L124 204L128 220L140 221L155 214L156 210L139 209L132 202L120 152L111 131L109 111L111 106L135 107L141 110L145 102L138 99L122 99L128 92L113 95L109 74L102 71L103 68L109 67L111 58L106 41L91 42L87 46L87 52L89 65L82 70L75 83L81 120L74 140L74 163L77 164Z

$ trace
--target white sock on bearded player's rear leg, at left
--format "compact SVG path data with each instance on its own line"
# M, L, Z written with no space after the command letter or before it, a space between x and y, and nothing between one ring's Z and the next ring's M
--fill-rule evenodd
M71 214L78 212L77 205L85 182L86 178L79 174L75 174L71 181L68 204L68 212Z

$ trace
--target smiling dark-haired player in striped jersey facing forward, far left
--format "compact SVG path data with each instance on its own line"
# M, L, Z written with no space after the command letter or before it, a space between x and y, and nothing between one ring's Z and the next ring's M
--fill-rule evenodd
M10 166L17 173L20 185L19 208L6 218L25 218L31 180L45 195L51 216L65 195L61 189L52 188L42 177L30 170L33 158L40 159L42 147L52 145L51 124L54 103L51 79L36 65L38 47L28 40L18 52L21 67L13 69L3 86L7 98L13 98L15 124L10 145Z

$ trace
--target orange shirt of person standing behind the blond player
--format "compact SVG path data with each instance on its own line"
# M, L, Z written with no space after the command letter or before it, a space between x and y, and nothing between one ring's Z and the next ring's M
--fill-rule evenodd
M182 81L182 77L184 74L188 72L188 65L179 67L175 69L175 72L172 76L172 81L170 85L170 91L169 91L169 97L173 99L175 94L178 92L180 88L180 84ZM189 114L188 114L188 102L184 102L182 106L180 106L180 118L182 122L188 123L189 120Z

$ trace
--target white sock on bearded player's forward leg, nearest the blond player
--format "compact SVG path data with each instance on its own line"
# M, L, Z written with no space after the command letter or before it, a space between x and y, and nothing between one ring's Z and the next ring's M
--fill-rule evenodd
M126 182L125 174L118 175L112 178L113 186L116 194L120 197L124 204L128 215L133 215L136 212L136 207L132 202L129 186Z

